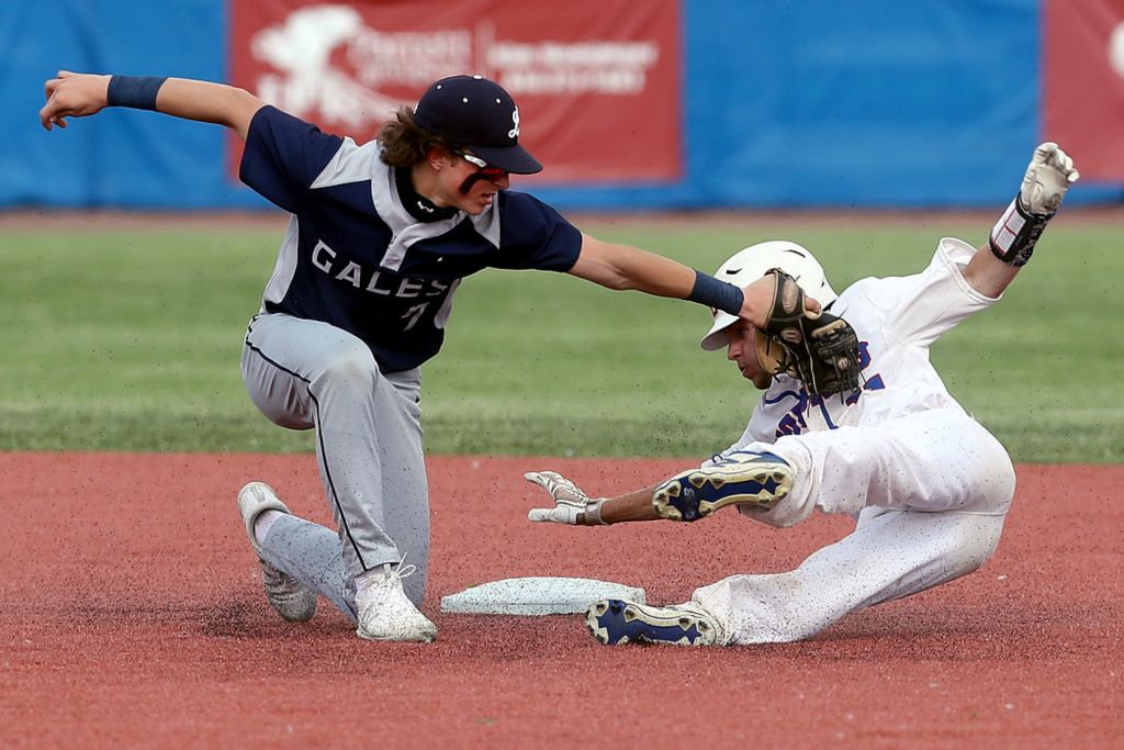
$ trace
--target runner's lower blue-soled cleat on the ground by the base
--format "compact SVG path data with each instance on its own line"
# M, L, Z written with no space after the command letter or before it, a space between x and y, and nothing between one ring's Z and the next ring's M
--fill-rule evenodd
M695 602L652 607L624 599L601 599L586 609L586 627L605 645L725 645L722 625Z

